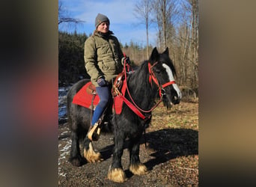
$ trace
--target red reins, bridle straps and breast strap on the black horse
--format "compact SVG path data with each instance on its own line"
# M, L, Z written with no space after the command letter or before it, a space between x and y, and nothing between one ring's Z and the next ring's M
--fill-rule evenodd
M153 66L155 66L158 62L156 61ZM149 77L149 82L152 86L152 80L153 82L156 83L158 89L159 89L159 96L160 96L160 99L159 101L156 103L156 105L154 105L152 108L150 108L149 110L144 110L142 108L140 108L136 103L135 101L132 99L132 96L131 94L129 93L129 88L128 88L128 85L127 85L127 70L126 70L126 61L124 61L124 79L126 80L125 84L126 84L126 89L127 89L127 93L129 95L129 98L131 99L133 105L131 102L129 102L124 96L122 96L122 98L124 99L124 102L128 103L127 105L129 106L129 108L132 109L132 111L135 112L135 114L137 114L139 117L141 117L143 120L145 120L146 117L144 117L143 114L141 114L141 111L144 112L144 113L149 113L150 111L153 111L154 108L156 108L157 105L159 105L159 103L162 101L162 96L165 95L165 87L169 86L169 85L172 85L174 84L175 82L174 81L171 81L171 82L167 82L165 83L164 85L159 85L159 82L158 80L156 79L156 76L155 74L153 73L153 66L150 65L150 63L148 62L148 71L150 73L150 77ZM150 118L150 115L147 116L147 119Z

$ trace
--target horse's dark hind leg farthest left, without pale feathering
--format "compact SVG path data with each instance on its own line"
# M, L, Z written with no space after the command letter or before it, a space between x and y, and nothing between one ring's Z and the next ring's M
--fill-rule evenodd
M70 162L72 165L81 166L84 159L82 159L79 149L79 136L76 131L71 131L71 150Z

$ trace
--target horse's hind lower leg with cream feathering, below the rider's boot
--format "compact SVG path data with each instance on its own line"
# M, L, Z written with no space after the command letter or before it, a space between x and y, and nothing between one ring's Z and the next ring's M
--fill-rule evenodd
M94 146L87 135L84 139L84 157L88 162L100 162L103 160L100 152L94 151Z

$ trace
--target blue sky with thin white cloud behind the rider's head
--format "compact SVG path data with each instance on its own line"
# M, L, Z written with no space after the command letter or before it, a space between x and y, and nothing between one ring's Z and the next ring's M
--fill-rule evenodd
M84 22L78 25L60 24L60 31L73 33L91 34L95 30L94 22L97 13L102 13L109 17L110 28L119 42L129 45L132 40L138 46L147 45L147 34L145 25L139 24L140 19L135 17L134 8L138 0L59 0L62 7L67 11L68 16L80 19ZM156 28L149 29L149 43L156 46Z

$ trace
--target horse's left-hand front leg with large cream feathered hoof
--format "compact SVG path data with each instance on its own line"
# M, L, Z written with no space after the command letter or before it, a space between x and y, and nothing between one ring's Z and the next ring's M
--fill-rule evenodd
M124 183L124 181L127 180L121 164L121 157L124 152L124 136L115 135L115 138L113 160L112 165L109 168L108 179L116 183Z

